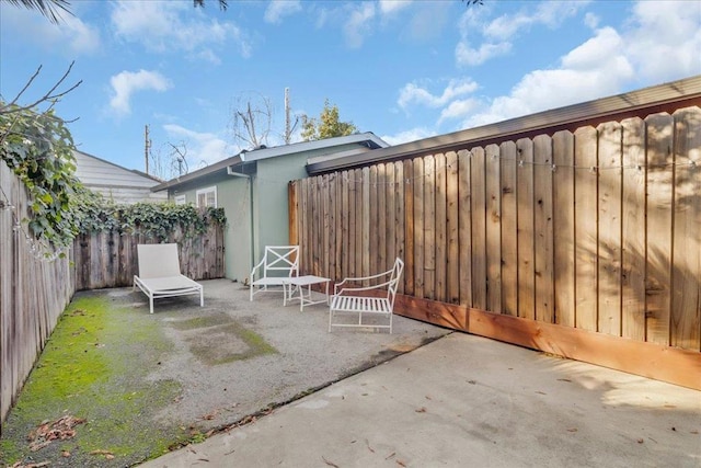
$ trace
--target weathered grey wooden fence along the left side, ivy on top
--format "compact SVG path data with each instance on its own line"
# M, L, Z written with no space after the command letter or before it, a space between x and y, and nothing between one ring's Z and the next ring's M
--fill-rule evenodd
M33 251L28 194L0 162L0 421L74 292L68 256L48 261Z

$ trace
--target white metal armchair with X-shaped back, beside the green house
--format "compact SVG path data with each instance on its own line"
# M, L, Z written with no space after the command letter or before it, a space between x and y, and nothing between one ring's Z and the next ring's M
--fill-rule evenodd
M264 292L286 293L285 279L299 275L299 246L268 246L263 260L251 271L251 300ZM279 289L268 289L271 286ZM291 294L291 292L290 292Z

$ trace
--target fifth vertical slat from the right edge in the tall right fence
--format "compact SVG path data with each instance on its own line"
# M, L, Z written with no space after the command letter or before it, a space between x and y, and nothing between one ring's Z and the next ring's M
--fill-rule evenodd
M597 331L597 133L593 127L583 127L574 138L576 327Z

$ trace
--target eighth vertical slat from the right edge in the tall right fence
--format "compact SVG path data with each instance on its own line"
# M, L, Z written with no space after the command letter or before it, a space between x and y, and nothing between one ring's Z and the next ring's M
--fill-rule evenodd
M516 141L518 170L516 191L518 212L518 317L536 319L536 259L533 243L533 142L522 138Z

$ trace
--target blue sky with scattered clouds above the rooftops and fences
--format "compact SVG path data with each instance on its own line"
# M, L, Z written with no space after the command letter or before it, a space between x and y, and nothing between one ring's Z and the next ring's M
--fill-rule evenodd
M232 109L273 105L268 146L291 114L343 121L399 144L701 75L699 1L72 0L53 25L0 1L0 94L46 92L82 151L143 170L185 144L189 169L235 155ZM296 135L294 140L299 140Z

